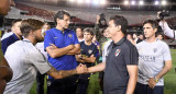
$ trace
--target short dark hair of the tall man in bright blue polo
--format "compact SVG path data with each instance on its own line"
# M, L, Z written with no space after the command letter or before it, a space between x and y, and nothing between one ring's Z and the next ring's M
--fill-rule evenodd
M59 11L55 14L55 16L54 16L54 22L55 22L55 24L57 24L57 19L63 20L63 19L64 19L64 15L70 16L70 14L69 14L67 11L65 11L65 10L59 10Z

